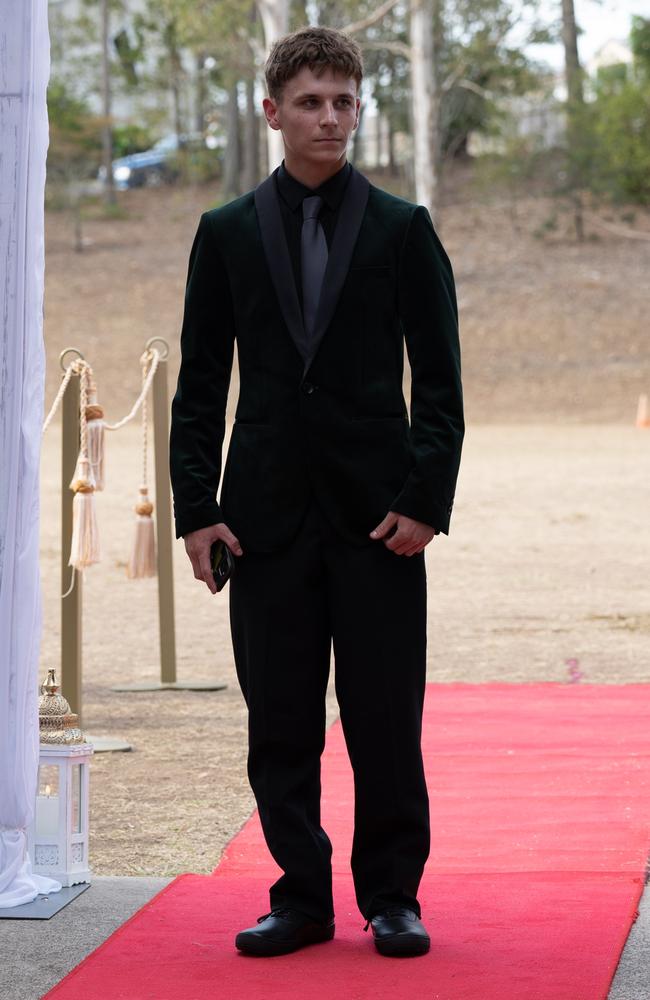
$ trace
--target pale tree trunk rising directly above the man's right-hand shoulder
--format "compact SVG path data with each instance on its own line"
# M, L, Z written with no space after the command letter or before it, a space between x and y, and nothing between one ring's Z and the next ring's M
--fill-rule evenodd
M411 102L415 197L438 212L437 95L433 66L433 0L411 0Z

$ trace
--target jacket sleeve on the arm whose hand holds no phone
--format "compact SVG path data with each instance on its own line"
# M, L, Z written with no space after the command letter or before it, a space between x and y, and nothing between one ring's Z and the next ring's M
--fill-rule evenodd
M411 471L390 509L449 534L465 424L449 258L418 205L402 246L399 315L411 365Z

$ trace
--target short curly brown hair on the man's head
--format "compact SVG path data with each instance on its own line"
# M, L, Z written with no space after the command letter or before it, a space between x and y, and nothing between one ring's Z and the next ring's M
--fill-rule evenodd
M357 90L363 79L363 57L353 38L335 28L299 28L278 38L271 46L264 66L271 100L276 103L281 100L284 85L303 66L308 66L317 76L330 68L336 73L353 77Z

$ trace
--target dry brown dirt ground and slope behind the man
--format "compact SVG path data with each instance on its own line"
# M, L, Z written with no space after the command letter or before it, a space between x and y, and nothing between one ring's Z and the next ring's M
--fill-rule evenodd
M125 192L128 218L88 221L81 254L69 220L48 214L46 409L70 345L94 366L110 422L137 395L150 336L170 342L173 391L187 255L215 200L208 189ZM427 553L435 682L650 681L650 429L634 427L638 394L650 392L650 241L599 229L581 246L542 242L532 230L547 210L531 200L517 233L507 206L479 204L467 187L444 209L467 436L450 535ZM632 224L644 227L644 217ZM227 591L213 596L194 580L182 542L178 676L227 687L112 690L159 674L156 581L125 576L140 434L136 420L108 435L102 562L82 584L83 726L133 746L93 758L91 864L98 875L209 872L253 801ZM42 453L43 679L60 667L59 463L55 421ZM333 695L329 710L334 718Z

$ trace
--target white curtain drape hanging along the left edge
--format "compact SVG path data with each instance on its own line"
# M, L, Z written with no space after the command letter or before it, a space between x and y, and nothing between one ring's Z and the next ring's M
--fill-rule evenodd
M47 0L0 0L0 907L61 883L27 852L38 774Z

